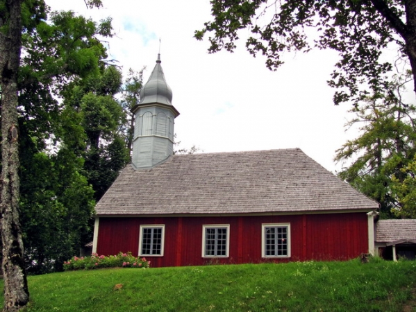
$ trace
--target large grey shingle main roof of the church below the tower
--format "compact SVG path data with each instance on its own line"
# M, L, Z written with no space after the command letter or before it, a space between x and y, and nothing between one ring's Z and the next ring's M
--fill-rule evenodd
M376 202L294 148L172 155L148 170L128 165L95 209L103 216L377 208Z

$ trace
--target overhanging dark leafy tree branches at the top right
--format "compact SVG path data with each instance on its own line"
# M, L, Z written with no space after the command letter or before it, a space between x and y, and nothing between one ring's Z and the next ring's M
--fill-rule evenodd
M233 51L243 28L251 32L247 50L265 55L269 69L283 64L285 51L333 49L340 56L328 81L338 89L333 101L358 105L369 94L387 89L392 62L383 62L381 55L390 44L397 44L399 56L410 61L416 92L413 0L213 0L211 6L213 21L195 31L198 40L210 34L210 53Z

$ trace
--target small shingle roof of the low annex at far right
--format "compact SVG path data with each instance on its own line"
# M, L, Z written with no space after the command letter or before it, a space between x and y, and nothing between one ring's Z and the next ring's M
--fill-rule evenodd
M388 243L402 239L416 239L416 220L378 220L376 224L376 242Z

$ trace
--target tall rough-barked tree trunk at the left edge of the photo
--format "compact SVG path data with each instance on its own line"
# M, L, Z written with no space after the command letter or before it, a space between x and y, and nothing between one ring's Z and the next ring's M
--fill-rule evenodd
M1 71L1 239L3 242L3 311L18 311L29 300L19 224L19 144L17 73L22 38L21 1L6 0L0 19Z

